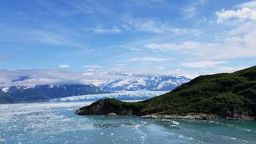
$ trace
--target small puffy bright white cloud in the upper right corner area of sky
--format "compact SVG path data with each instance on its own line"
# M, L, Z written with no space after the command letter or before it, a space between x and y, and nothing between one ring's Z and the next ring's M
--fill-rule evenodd
M230 18L236 18L240 21L244 20L256 20L256 9L255 8L242 8L240 10L221 10L221 12L216 12L218 17L217 22L223 23L225 20Z

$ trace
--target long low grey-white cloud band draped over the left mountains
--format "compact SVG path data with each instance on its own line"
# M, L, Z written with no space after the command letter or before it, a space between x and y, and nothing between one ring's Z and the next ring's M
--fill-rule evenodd
M10 83L14 77L29 76L25 81ZM63 70L0 70L0 86L31 86L42 84L99 84L107 83L108 79L122 78L106 72L84 74L84 72L67 72Z

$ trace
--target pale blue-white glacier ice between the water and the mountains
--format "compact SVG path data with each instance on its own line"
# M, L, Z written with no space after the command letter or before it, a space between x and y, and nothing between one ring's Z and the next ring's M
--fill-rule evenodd
M105 98L115 98L118 100L136 100L136 99L150 99L159 95L167 93L166 91L139 91L139 92L127 92L122 91L118 93L104 93L93 95L79 95L72 97L62 97L59 99L51 99L50 102L70 102L70 101L90 101L99 100Z

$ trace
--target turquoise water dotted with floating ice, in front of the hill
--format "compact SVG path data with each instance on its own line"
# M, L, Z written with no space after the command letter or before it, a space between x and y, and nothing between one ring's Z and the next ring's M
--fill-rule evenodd
M2 143L256 143L256 122L75 115L92 102L0 105Z

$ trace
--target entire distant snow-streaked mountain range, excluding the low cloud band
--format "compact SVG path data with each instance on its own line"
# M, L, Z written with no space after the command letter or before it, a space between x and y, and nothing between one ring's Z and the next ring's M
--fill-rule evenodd
M19 76L14 77L12 81L1 83L0 92L1 95L9 95L8 100L4 100L3 103L12 103L117 91L171 91L177 86L190 81L190 79L183 76L128 74L125 71L100 72L93 69L84 72L81 79L83 77L87 79L92 77L93 81L92 79L88 79L88 81L93 83L40 84L40 81L47 79L47 77ZM35 84L29 83L31 81ZM83 79L83 81L86 81L86 79ZM9 99L10 96L12 96L11 100Z

